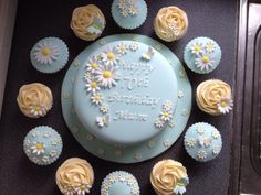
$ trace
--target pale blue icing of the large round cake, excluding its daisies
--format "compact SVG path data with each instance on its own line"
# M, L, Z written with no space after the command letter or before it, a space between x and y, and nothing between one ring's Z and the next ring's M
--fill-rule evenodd
M118 54L122 44L127 47L125 54ZM132 47L134 44L136 47ZM85 78L87 73L87 80L96 80L98 74L90 74L90 66L85 65L96 56L96 64L105 67L107 50L119 58L108 65L115 67L118 78L111 88L100 83L103 100L95 104L92 102L95 93L87 91L90 82ZM168 61L156 50L139 42L116 41L96 50L83 64L75 78L73 104L82 124L97 138L109 143L135 144L155 137L171 120L177 105L177 78ZM107 108L105 111L103 106ZM157 119L163 127L156 124Z

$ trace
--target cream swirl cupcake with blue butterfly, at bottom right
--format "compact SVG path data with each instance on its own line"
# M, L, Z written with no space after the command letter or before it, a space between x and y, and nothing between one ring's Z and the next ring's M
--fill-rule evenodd
M150 183L157 195L181 195L189 183L187 170L174 160L163 160L154 165Z

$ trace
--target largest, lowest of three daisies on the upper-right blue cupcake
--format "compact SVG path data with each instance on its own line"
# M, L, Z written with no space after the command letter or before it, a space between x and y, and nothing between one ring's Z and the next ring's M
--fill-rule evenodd
M211 68L215 64L215 57L212 54L210 53L203 53L203 54L199 54L196 58L195 58L195 64L198 68L200 68L201 71L206 69L208 71L209 68Z

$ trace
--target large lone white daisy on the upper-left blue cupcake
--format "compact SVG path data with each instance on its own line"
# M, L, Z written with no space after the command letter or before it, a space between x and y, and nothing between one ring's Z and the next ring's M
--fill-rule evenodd
M39 42L34 47L33 55L41 64L52 64L59 57L59 48L50 41Z

